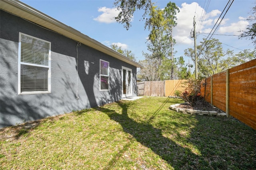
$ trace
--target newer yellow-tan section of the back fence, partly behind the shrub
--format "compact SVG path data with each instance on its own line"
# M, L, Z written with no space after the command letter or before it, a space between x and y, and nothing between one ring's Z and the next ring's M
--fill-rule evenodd
M165 96L173 96L176 90L184 92L186 90L187 80L166 80L165 81Z

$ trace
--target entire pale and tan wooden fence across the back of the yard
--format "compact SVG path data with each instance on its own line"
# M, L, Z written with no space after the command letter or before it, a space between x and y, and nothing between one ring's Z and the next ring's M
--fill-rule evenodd
M143 81L137 83L138 95L172 96L176 90L186 90L186 80Z

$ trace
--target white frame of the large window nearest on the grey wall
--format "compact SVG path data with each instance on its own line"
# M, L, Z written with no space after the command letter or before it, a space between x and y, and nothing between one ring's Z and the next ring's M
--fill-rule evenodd
M34 64L34 63L26 63L21 61L21 36L27 36L33 39L37 39L46 43L49 43L49 57L48 57L48 65L40 65L40 64ZM42 40L40 38L36 38L24 33L19 33L19 45L18 45L18 95L30 95L30 94L45 94L45 93L51 93L51 42L48 42L46 40ZM21 91L21 65L28 65L28 66L34 66L34 67L41 67L41 68L47 68L48 69L48 90L47 91Z

